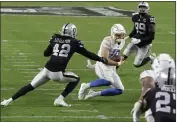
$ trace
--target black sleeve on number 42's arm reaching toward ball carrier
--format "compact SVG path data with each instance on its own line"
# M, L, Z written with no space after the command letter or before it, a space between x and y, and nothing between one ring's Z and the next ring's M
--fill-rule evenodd
M91 60L100 61L100 57L96 55L95 53L92 53L88 51L87 49L85 49L84 45L80 41L78 41L76 52Z

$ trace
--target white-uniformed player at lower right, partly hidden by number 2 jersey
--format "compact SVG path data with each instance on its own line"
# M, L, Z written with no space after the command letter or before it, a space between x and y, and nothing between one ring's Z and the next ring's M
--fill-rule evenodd
M140 108L143 104L143 96L149 88L154 88L159 85L158 76L163 69L173 68L175 69L175 62L168 54L160 54L157 56L152 65L152 70L145 70L140 74L140 82L142 84L142 91L139 100L134 104L132 109L133 122L138 122L141 114ZM145 114L146 119L148 120L148 112ZM149 121L148 121L149 122ZM151 122L151 121L150 121Z

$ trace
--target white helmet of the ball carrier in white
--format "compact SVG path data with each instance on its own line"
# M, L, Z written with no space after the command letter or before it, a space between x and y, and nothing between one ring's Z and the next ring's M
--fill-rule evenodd
M120 43L125 40L125 28L121 24L114 24L111 27L111 36L114 41Z

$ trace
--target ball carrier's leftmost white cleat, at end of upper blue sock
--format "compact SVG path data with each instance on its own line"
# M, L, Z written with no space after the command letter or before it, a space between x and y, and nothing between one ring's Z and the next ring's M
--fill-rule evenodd
M81 87L79 89L79 93L78 93L78 99L79 100L83 100L85 97L85 92L88 89L88 85L86 83L82 83Z

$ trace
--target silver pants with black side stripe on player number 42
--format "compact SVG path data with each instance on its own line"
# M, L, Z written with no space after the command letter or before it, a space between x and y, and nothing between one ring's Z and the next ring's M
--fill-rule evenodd
M31 85L34 88L41 86L48 82L49 80L53 80L56 82L76 82L78 80L78 76L73 72L51 72L46 68L43 68L32 80Z

